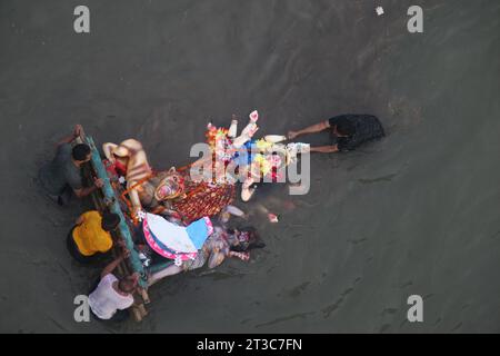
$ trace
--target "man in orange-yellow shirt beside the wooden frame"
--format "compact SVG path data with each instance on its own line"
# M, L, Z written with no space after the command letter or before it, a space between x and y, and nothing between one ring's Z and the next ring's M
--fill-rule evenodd
M104 211L91 210L82 214L76 226L68 234L68 250L81 264L90 264L113 246L110 231L120 224L120 216Z

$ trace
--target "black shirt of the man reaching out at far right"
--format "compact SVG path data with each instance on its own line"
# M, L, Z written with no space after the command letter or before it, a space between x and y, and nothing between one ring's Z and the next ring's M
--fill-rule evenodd
M339 120L349 120L354 126L354 134L348 137L337 137L337 147L339 151L350 151L361 144L382 138L382 125L373 115L339 115L329 119L330 127L337 125Z

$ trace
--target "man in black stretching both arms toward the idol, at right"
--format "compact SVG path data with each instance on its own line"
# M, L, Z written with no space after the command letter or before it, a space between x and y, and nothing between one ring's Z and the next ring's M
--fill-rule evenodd
M288 138L294 139L301 135L314 134L331 129L333 141L328 146L311 147L311 152L350 151L364 142L382 138L382 125L372 115L339 115L299 131L289 131Z

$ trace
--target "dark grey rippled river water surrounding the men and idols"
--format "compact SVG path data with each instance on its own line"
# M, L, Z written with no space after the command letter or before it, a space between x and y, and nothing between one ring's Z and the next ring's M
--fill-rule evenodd
M500 332L500 2L88 0L77 34L80 2L0 1L1 332ZM82 123L169 168L209 119L253 109L262 134L360 112L387 137L313 156L307 195L237 202L267 243L250 263L163 280L141 324L76 323L99 269L66 250L84 207L34 184L54 142ZM413 294L423 323L407 320Z

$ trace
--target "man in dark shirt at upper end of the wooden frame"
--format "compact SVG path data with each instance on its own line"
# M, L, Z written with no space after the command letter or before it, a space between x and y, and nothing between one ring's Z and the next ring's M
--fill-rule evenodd
M90 147L86 144L72 145L82 134L81 126L77 125L73 134L58 144L54 159L39 172L41 186L61 206L68 205L73 194L83 198L103 185L102 179L94 179L93 186L83 187L81 167L90 160Z

